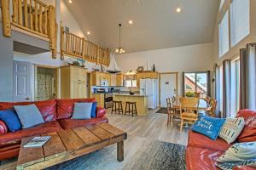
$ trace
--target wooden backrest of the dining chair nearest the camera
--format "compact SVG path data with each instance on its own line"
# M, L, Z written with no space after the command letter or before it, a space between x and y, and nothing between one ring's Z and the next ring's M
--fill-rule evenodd
M198 105L199 105L199 98L195 97L182 97L179 99L180 102L180 111L182 112L191 112L196 113L198 112Z

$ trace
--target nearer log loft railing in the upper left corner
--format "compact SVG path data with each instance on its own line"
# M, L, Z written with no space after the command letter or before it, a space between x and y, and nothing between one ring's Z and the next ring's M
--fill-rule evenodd
M55 7L40 0L12 0L12 17L10 1L2 0L3 36L11 37L11 29L44 37L49 41L49 48L56 54Z

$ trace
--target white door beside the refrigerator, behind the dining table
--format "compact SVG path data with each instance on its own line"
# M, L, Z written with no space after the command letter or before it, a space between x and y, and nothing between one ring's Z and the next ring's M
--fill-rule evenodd
M177 97L177 73L160 74L160 107L166 107L166 99Z

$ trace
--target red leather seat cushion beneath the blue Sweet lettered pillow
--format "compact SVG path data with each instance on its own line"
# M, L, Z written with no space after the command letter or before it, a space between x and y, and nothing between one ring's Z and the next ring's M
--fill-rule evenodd
M212 140L200 133L195 133L192 131L189 131L188 145L193 147L219 151L228 150L231 146L230 144L226 143L224 139L218 138L216 140Z

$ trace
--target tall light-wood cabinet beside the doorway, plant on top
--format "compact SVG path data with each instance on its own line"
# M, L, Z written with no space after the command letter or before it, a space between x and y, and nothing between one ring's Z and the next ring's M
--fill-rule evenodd
M88 98L87 71L78 66L61 67L61 99Z

